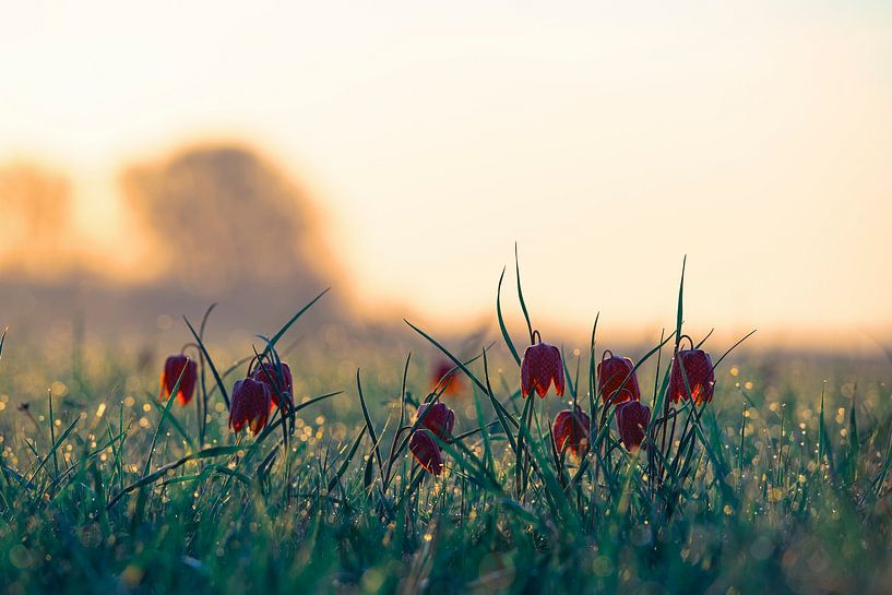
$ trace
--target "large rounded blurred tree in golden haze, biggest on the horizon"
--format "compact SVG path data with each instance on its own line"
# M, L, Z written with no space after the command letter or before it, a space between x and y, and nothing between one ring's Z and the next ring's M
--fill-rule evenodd
M129 169L123 189L180 287L323 287L330 261L306 193L238 145L200 146ZM328 273L328 274L326 274Z

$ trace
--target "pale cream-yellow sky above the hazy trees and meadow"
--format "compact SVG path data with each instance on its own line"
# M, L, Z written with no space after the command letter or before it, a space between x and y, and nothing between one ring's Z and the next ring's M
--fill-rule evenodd
M892 7L718 4L0 0L0 163L122 275L120 169L238 140L367 307L477 320L518 242L544 324L670 324L687 255L695 325L892 336Z

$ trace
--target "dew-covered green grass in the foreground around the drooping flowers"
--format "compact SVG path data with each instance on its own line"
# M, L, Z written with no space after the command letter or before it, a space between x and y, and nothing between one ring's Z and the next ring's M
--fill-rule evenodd
M114 383L79 370L83 395L50 393L19 413L5 394L17 378L8 369L14 333L4 334L0 593L889 592L888 383L866 378L837 395L834 381L813 381L822 371L785 373L783 359L754 356L732 366L726 353L712 402L682 392L676 403L668 390L683 336L682 281L675 329L640 349L612 389L628 392L638 374L635 392L645 394L637 406L652 410L646 427L632 428L641 433L628 441L643 436L632 448L618 431L623 405L599 391L597 319L574 373L566 361L558 372L568 398L551 389L524 400L525 345L511 341L503 278L498 348L460 356L452 340L409 323L452 362L447 376L466 377L461 395L447 393L445 377L429 381L424 357L402 354L399 376L364 366L355 394L336 398L319 384L330 376L324 358L310 367L277 350L302 308L234 366L211 358L207 314L199 331L186 321L199 354L198 408L156 404L151 388L136 391L142 401L107 403L100 395ZM561 360L572 350L558 347ZM273 370L288 362L304 382L287 394L266 379L278 405L255 438L227 428L233 377L252 360ZM771 390L738 381L741 369ZM438 415L454 410L451 436L417 415L435 403ZM588 418L575 452L552 436L568 405ZM411 436L430 428L439 428L426 442L441 457L438 476L409 452Z

